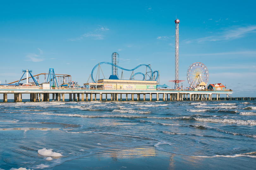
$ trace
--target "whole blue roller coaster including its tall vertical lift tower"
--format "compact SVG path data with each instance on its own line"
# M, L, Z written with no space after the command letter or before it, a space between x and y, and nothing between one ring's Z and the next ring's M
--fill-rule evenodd
M118 56L118 58L117 58L117 56ZM133 69L125 69L125 68L122 68L122 67L118 66L118 63L119 63L119 54L118 54L117 52L113 52L113 53L112 53L112 63L109 63L109 62L101 62L101 63L96 64L96 65L94 66L94 68L92 69L92 73L91 73L91 79L92 79L92 81L93 81L94 83L96 83L95 80L94 80L94 78L93 78L93 72L94 72L94 70L95 70L97 67L100 67L101 64L112 65L112 75L116 75L118 79L119 79L119 76L118 76L118 69L117 69L117 68L122 69L122 70L125 70L125 71L132 71L132 75L131 75L131 77L130 77L130 80L131 80L131 79L134 79L134 76L135 76L135 75L138 75L138 74L143 75L143 80L145 80L145 75L147 76L148 73L150 73L150 74L149 74L149 80L151 80L151 81L157 81L157 80L158 80L159 71L154 71L154 72L153 72L152 69L151 69L151 67L150 67L150 65L147 65L147 64L140 64L140 65L136 66L136 67L133 68ZM149 72L146 71L146 74L143 74L143 73L135 73L135 74L133 74L133 71L134 71L135 69L137 69L137 68L139 68L139 67L142 67L142 66L146 66L146 68L149 68L150 71L149 71ZM156 74L156 76L155 76L155 74Z

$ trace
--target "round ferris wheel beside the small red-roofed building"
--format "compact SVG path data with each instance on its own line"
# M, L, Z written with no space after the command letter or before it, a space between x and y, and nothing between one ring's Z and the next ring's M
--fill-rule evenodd
M207 67L203 63L193 63L187 70L187 81L190 87L195 88L200 83L208 82L209 73Z

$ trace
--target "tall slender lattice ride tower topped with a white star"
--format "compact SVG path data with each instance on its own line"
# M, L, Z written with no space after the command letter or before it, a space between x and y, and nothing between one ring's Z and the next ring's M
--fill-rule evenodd
M178 89L180 87L179 83L185 80L179 80L179 24L180 20L175 20L175 80L172 82L175 83L174 89Z

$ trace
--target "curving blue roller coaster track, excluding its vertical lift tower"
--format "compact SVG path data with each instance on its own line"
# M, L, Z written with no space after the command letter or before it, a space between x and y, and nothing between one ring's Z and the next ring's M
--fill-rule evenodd
M120 66L118 66L118 65L115 65L115 64L109 63L109 62L101 62L101 63L99 63L99 64L100 64L100 65L101 65L101 64L109 64L109 65L115 66L115 67L117 67L117 68L119 68L119 69L122 69L122 70L125 70L125 71L133 71L133 70L135 70L135 69L137 69L137 68L139 68L139 67L141 67L141 66L146 66L146 67L148 67L149 69L151 69L151 68L149 67L149 65L147 65L147 64L138 65L137 67L135 67L134 69L131 69L131 70L129 70L129 69L124 69L124 68L122 68L122 67L120 67ZM93 79L93 72L94 72L95 68L99 66L99 64L95 65L94 68L92 69L91 78L92 78L92 81L93 81L94 83L96 83L96 82L95 82L95 80ZM154 81L156 81L156 80L158 79L158 76L159 76L158 71L154 71L154 72L153 72L152 69L151 69L151 77L149 78L149 80L152 80L152 79L153 79L153 76L154 76L155 73L157 73L157 76L156 76L156 78L155 78ZM135 73L134 75L137 75L137 74L143 74L143 73ZM144 74L143 74L143 75L144 75ZM132 77L133 77L133 76L132 76ZM144 75L143 80L144 80L144 79L145 79L145 75Z

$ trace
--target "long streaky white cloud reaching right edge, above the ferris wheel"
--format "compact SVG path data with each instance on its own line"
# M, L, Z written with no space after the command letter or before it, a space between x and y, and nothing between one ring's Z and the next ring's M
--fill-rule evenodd
M256 25L250 25L246 27L233 27L225 29L222 33L219 35L214 36L207 36L203 38L196 39L197 42L203 42L203 41L222 41L222 40L232 40L236 38L240 38L245 36L248 33L255 32ZM186 43L190 43L193 41L186 41Z

